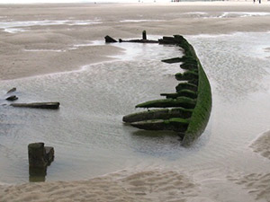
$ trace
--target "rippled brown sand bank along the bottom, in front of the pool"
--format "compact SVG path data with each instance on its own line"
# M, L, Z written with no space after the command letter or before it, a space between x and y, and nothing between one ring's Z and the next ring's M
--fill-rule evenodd
M0 201L187 201L196 185L176 171L126 171L92 180L0 186Z

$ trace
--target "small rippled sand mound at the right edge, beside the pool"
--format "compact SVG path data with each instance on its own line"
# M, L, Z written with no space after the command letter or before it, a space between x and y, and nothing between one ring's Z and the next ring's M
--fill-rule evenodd
M259 136L250 147L253 148L254 152L259 153L270 160L270 130L262 136Z

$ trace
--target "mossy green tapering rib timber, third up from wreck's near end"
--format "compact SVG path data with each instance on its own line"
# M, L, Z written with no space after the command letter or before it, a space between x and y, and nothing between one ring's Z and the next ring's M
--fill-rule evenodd
M182 107L193 109L196 105L196 100L187 97L178 97L176 99L161 99L154 101L146 101L136 105L136 108L173 108Z

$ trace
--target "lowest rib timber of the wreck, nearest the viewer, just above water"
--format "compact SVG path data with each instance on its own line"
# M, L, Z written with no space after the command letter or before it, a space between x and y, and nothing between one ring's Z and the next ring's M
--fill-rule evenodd
M138 127L146 130L174 130L176 132L184 132L189 124L188 119L173 118L173 119L154 119L133 122L132 127Z

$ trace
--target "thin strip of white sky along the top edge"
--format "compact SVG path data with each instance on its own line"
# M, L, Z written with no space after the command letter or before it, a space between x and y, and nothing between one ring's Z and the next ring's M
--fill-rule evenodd
M140 0L140 2L148 3L155 0ZM170 0L156 0L157 3L169 2ZM105 2L121 2L121 3L137 3L139 0L0 0L0 4L36 4L36 3L105 3Z

